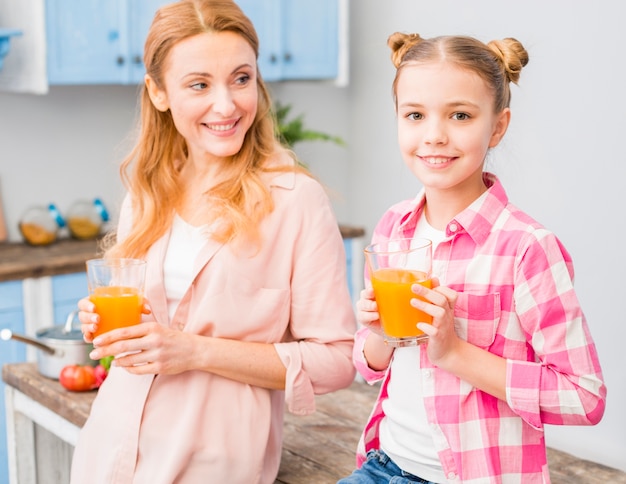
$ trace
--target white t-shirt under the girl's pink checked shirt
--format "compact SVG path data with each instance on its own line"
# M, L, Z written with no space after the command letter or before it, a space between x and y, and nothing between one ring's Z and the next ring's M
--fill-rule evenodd
M422 216L414 237L433 242L433 253L445 238ZM436 270L433 271L434 275ZM389 398L383 401L385 417L380 424L382 450L404 471L433 482L447 482L429 430L422 400L420 346L396 348L391 362Z

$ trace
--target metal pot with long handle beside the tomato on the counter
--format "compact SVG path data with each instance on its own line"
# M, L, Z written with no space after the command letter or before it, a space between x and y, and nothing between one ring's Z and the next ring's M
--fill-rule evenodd
M40 329L36 333L36 338L3 329L0 331L0 339L5 341L14 339L36 346L39 349L37 370L43 376L58 380L61 370L67 365L95 366L98 363L89 358L93 345L85 343L83 333L74 327L74 318L77 314L77 311L71 312L65 324Z

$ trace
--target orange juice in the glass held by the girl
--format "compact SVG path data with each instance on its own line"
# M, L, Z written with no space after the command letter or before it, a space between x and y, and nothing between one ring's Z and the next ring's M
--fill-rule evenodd
M419 298L413 284L432 287L432 281L424 272L409 269L377 269L372 274L372 287L378 305L378 314L387 336L406 338L421 336L417 323L432 323L432 316L411 306L411 299Z

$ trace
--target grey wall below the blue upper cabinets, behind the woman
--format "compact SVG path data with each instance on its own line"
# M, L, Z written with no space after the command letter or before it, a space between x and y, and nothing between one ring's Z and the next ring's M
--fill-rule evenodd
M303 114L306 127L347 139L345 88L315 82L270 88L294 104L293 116ZM44 96L0 92L0 196L10 240L20 240L18 221L33 205L55 203L64 213L75 200L101 197L114 215L122 195L117 167L132 144L137 92L136 86L52 86ZM328 117L329 110L335 114ZM347 148L303 142L297 149L348 223Z

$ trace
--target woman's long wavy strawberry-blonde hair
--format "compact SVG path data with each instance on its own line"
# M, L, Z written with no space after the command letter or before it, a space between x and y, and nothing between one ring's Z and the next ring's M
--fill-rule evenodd
M256 57L259 41L254 26L232 0L181 0L160 8L146 38L144 64L147 74L164 88L168 55L174 45L206 32L234 32L252 47ZM233 155L223 182L207 193L207 214L220 220L212 237L225 242L236 235L258 241L260 221L274 206L261 174L301 168L268 168L281 150L275 138L271 98L257 68L256 117L241 150ZM187 159L187 145L168 111L154 107L146 86L140 94L141 116L137 144L123 160L120 173L128 189L133 211L132 227L124 240L111 234L105 241L107 256L142 257L171 225L182 187L179 173ZM285 151L284 149L282 151ZM293 153L290 156L294 158ZM199 201L200 203L200 201ZM113 244L113 245L112 245Z

